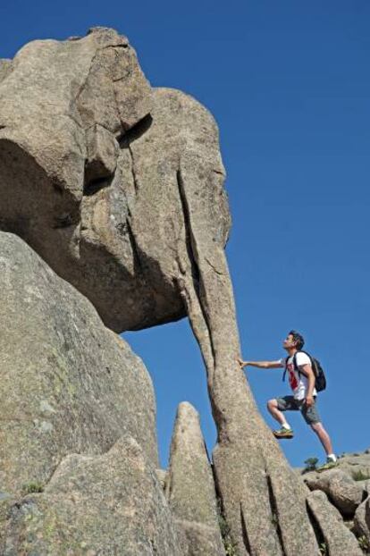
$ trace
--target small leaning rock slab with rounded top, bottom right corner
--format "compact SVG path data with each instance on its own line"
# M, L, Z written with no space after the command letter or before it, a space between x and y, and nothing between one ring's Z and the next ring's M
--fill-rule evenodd
M344 525L341 514L328 501L326 494L314 491L307 496L315 527L324 539L327 556L362 556L357 538Z

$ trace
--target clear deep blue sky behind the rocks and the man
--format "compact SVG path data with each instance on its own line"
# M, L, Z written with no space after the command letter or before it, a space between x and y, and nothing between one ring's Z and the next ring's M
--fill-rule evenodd
M0 57L94 25L126 34L152 85L188 92L219 124L244 358L280 358L285 334L301 331L328 375L320 410L336 451L368 448L370 3L13 0L0 5ZM163 467L181 400L200 412L211 451L205 371L188 323L124 337L155 383ZM288 393L280 371L250 369L248 378L273 425L265 400ZM290 422L290 462L322 457L302 418Z

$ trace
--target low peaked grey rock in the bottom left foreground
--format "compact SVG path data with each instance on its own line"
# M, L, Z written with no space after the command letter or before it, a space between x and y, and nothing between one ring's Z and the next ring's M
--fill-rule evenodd
M44 493L13 505L1 554L180 556L155 469L130 436L63 459Z

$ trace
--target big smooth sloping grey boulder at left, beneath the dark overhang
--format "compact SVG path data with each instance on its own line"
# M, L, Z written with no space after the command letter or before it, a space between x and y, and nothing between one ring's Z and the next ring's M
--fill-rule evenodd
M71 452L97 454L124 433L157 467L146 368L94 307L20 238L0 233L0 484L46 484Z

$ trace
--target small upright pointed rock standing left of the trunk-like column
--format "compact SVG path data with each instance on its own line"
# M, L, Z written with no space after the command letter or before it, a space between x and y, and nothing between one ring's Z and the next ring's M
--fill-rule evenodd
M180 404L174 425L165 493L176 521L181 552L223 556L214 478L197 411Z

